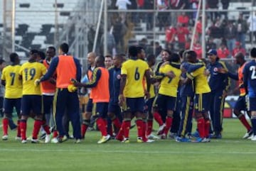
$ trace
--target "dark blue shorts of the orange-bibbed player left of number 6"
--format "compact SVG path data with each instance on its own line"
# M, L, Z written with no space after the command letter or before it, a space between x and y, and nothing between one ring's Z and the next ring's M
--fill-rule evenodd
M92 115L95 117L106 118L107 117L108 103L98 102L92 104Z

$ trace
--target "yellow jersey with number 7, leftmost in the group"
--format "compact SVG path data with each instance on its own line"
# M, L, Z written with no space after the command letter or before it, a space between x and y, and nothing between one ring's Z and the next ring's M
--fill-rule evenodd
M21 65L9 65L4 68L1 80L6 82L4 97L7 99L18 99L22 96L22 81L18 77Z

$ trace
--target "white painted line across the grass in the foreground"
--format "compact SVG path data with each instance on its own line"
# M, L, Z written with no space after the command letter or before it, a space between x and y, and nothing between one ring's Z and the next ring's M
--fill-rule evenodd
M75 149L35 149L35 148L18 148L18 149L0 149L1 152L75 152L75 153L154 153L154 154L227 154L227 155L238 155L238 154L246 154L246 155L255 155L256 152L198 152L198 151L142 151L142 150L75 150Z

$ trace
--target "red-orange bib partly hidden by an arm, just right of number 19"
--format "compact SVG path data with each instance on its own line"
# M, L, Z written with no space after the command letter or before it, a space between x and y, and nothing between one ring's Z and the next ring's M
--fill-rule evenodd
M47 69L50 66L47 60L43 60L43 65L45 65ZM56 74L53 75L53 79L56 79ZM55 89L56 89L56 84L53 84L50 81L41 82L41 91L43 94L54 95Z

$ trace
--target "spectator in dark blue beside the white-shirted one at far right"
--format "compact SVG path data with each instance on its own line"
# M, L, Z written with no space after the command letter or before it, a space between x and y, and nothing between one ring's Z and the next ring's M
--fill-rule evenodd
M245 48L245 34L248 31L247 22L242 18L242 13L239 14L237 27L237 40L242 44L242 48Z

